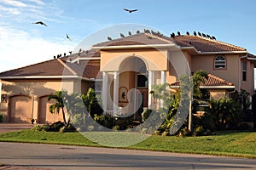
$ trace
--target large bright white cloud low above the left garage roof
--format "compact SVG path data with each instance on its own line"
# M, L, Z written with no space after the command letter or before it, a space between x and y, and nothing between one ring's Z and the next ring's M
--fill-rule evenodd
M49 42L41 37L30 37L26 31L0 27L0 72L32 65L54 55L67 53L76 46L73 42Z

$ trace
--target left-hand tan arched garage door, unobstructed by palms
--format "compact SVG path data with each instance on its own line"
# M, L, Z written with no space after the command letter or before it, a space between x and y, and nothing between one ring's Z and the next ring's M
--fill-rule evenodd
M32 99L29 96L17 95L10 98L10 122L31 122Z

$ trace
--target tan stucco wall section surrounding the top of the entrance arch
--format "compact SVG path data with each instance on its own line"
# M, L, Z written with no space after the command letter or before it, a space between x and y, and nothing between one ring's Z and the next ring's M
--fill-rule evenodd
M128 58L143 59L148 71L167 70L166 49L107 50L101 52L101 71L119 71L121 63Z

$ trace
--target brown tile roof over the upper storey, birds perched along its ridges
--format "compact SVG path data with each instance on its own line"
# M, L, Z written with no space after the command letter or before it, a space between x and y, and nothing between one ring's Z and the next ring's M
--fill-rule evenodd
M244 51L246 48L241 48L226 42L220 42L214 39L201 36L176 36L166 37L163 35L155 35L150 33L138 33L129 37L113 39L108 42L97 43L93 47L108 47L108 46L129 46L129 45L153 45L153 44L170 44L175 43L182 48L194 47L199 52L232 52Z

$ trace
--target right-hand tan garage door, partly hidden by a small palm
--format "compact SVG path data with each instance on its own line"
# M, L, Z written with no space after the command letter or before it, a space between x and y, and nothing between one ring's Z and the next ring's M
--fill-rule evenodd
M59 115L52 114L49 112L49 105L55 104L54 100L48 101L48 96L39 98L38 105L38 122L39 123L53 123L58 121L63 121L62 113Z

